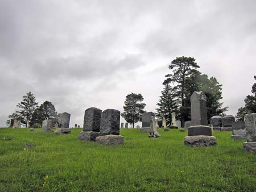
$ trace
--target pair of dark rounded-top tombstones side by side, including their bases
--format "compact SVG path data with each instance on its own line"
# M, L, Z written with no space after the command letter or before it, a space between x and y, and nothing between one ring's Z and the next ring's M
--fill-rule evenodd
M85 110L84 128L79 133L80 140L96 141L103 145L122 145L123 136L119 135L120 111L91 107Z

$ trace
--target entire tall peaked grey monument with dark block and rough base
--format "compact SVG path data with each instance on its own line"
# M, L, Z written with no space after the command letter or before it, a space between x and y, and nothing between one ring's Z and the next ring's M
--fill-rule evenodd
M203 91L191 95L191 126L188 127L188 136L184 137L184 144L192 147L216 145L216 137L207 121L207 98Z

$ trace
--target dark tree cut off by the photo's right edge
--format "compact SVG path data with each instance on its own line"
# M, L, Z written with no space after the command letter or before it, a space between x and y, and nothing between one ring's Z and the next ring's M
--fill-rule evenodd
M254 80L256 80L256 76L254 76ZM243 121L246 114L256 113L256 83L251 87L251 93L253 95L247 95L245 98L245 107L238 109L236 115L238 120Z

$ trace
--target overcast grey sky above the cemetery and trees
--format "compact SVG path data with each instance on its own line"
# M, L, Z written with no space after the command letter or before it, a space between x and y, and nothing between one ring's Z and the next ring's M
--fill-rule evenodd
M256 75L256 1L0 0L0 127L31 91L71 113L123 111L141 93L155 111L168 64L195 57L236 115ZM123 119L121 120L123 122Z

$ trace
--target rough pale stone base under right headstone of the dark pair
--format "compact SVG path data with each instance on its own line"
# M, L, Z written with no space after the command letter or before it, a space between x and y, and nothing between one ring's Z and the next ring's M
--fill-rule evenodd
M121 135L104 135L96 137L96 143L101 145L123 145L123 136Z

